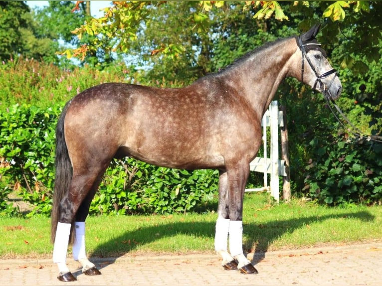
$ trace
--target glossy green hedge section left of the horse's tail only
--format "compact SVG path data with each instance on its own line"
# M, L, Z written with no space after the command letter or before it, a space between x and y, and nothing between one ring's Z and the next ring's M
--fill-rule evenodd
M12 106L0 113L0 188L50 212L54 179L54 129L60 110Z

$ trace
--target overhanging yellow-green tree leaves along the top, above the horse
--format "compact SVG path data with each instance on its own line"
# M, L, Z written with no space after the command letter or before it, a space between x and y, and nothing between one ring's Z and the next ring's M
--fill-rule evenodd
M156 12L160 6L172 6L172 1L114 1L111 7L104 9L104 16L100 18L91 18L83 25L76 28L73 32L81 38L85 33L90 35L98 35L93 41L78 47L73 50L66 50L68 56L84 57L86 53L94 48L102 48L106 51L121 50L127 52L132 41L137 39L137 34L141 29L148 26L153 21L157 21ZM280 21L292 21L296 11L309 16L313 12L317 12L317 4L310 1L293 1L283 4L278 1L184 1L188 2L189 9L183 9L186 14L179 20L187 19L189 25L194 32L206 32L206 23L211 18L210 13L213 13L216 8L225 9L240 5L242 10L252 10L252 16L255 20L267 20L272 16ZM378 46L378 41L381 39L380 16L381 3L379 1L334 1L334 2L319 2L321 20L325 20L331 27L331 39L335 38L341 30L338 28L344 23L347 27L359 23L360 20L364 25L354 25L354 29L365 35L364 42L360 44L363 47L368 47L369 50L364 52L368 58L375 59L378 51L375 50ZM287 11L287 12L285 12ZM285 13L290 13L287 16ZM308 12L308 14L306 13ZM168 14L170 15L170 14ZM302 23L302 27L306 28L311 25L310 17L306 17ZM288 22L286 24L289 24ZM176 28L176 27L175 27ZM328 39L328 38L327 38ZM326 41L324 42L326 43ZM366 45L365 45L366 44ZM171 48L171 45L177 45L177 49ZM167 45L159 44L156 48L160 51L174 56L182 48L182 43L167 43ZM154 49L153 49L154 51ZM372 55L370 55L372 52ZM370 55L370 56L369 56ZM347 63L348 61L345 61Z

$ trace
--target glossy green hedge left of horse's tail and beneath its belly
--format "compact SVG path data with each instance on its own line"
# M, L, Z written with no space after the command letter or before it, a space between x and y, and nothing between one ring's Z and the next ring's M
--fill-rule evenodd
M0 113L0 208L6 195L19 193L50 214L54 184L55 126L61 109L15 105ZM91 214L172 213L208 207L217 200L216 170L168 169L126 158L107 169L90 207Z

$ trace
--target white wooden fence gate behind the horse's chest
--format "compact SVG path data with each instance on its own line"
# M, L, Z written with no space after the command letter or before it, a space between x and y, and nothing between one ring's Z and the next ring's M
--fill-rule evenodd
M278 110L277 101L272 101L269 109L265 112L261 121L263 127L264 158L256 157L250 162L251 171L264 173L264 185L262 188L246 189L251 191L270 191L277 202L280 201L279 175L286 176L285 161L279 159L279 126L283 127L283 113ZM267 150L267 127L270 128L270 156L268 158ZM268 176L270 174L270 185L268 185Z

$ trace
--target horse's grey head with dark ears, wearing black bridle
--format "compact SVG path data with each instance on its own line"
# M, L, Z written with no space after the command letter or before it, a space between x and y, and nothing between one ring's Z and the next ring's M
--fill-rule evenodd
M309 31L296 37L302 53L301 81L320 91L326 99L336 100L341 94L342 85L336 70L326 58L326 52L316 40L319 30L320 25L314 25Z

